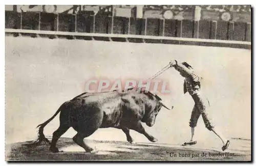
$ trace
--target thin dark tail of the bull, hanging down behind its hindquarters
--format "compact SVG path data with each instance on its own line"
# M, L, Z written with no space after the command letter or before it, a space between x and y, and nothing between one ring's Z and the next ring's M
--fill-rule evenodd
M46 138L45 134L44 134L44 127L50 123L57 115L58 113L60 112L61 110L61 106L58 108L58 110L56 111L56 113L50 118L48 119L47 121L45 121L44 123L41 123L39 124L36 128L39 127L39 130L38 130L38 138L33 142L33 143L30 143L30 144L23 144L23 145L26 145L26 146L30 146L30 147L35 147L35 146L38 146L40 143L46 143L46 144L51 144L50 141Z

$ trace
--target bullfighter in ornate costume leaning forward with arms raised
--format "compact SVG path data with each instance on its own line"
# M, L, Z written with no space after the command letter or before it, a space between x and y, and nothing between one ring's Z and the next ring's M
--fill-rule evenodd
M180 72L180 75L185 78L184 80L184 94L186 92L193 98L195 105L191 112L191 117L189 121L189 126L191 127L191 139L188 142L182 144L182 146L186 145L195 145L197 141L194 141L194 133L195 127L197 126L198 119L200 115L202 115L205 127L214 132L222 141L223 146L222 150L226 150L230 144L230 141L227 140L220 131L218 131L214 124L212 124L211 119L208 115L209 101L208 99L202 95L201 93L201 77L199 77L193 71L193 67L191 67L188 63L182 62L178 63L175 61L169 62L170 67L174 67L177 71Z

